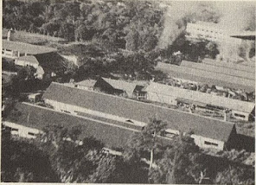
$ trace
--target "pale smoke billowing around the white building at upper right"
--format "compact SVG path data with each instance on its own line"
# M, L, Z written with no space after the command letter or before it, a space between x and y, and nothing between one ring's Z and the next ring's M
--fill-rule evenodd
M225 30L227 40L219 41L218 49L220 56L224 61L237 61L240 56L248 59L251 49L251 41L242 41L240 39L230 38L230 35L240 34L247 29L255 30L255 5L253 2L165 2L163 32L158 42L158 48L167 48L171 45L179 35L186 29L186 22L183 20L185 16L193 13L199 14L200 11L208 9L219 15L219 22L214 24L220 29ZM195 20L196 21L196 20ZM198 21L198 20L197 20ZM240 50L243 53L241 54Z

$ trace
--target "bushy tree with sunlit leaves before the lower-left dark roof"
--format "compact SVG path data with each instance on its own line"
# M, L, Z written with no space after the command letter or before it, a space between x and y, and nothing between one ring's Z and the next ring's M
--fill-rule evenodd
M86 182L98 167L104 144L93 137L80 141L80 127L51 125L38 137L39 147L48 152L61 182Z

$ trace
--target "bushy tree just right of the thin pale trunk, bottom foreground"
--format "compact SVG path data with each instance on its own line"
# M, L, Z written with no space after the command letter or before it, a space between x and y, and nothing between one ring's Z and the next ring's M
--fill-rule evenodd
M155 183L200 183L206 170L199 148L189 137L177 136L157 161L157 169L150 171L150 182Z

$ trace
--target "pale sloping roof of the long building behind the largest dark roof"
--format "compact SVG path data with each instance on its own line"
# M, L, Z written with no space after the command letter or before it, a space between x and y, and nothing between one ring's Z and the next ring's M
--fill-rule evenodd
M253 112L253 108L255 106L252 102L240 101L238 99L228 99L226 97L216 96L205 92L192 91L155 82L151 82L150 85L146 87L145 91L164 94L180 99L189 99L202 104L215 105L247 113Z

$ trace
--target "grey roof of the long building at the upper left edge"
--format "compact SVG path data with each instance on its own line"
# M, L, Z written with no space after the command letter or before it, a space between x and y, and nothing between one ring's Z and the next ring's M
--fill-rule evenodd
M47 48L43 46L37 46L33 44L28 44L20 41L7 41L2 40L3 49L10 49L14 51L19 51L21 53L27 54L46 54L51 52L56 52L55 48Z

